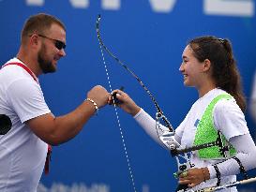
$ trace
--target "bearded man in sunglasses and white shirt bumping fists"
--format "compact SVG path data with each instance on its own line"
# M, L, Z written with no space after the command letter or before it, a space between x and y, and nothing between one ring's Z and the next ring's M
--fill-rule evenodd
M74 111L59 117L51 113L38 76L56 70L58 60L66 55L65 47L62 22L47 14L32 16L23 26L17 56L0 70L0 114L12 124L0 135L0 191L37 191L49 146L74 138L107 104L109 94L98 85Z

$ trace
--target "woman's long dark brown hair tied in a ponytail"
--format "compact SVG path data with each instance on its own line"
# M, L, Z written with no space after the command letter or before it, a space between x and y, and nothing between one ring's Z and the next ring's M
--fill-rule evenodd
M212 77L216 86L232 95L242 111L246 111L246 99L241 78L233 58L231 42L217 37L197 37L189 41L193 55L203 62L210 60Z

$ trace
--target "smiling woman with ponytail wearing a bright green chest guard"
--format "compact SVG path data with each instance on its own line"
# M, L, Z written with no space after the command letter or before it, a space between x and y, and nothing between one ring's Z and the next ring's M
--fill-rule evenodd
M189 158L193 167L180 174L179 184L197 190L232 183L240 170L256 167L256 147L243 113L246 101L231 43L217 37L192 39L182 54L182 60L179 70L184 76L184 84L195 87L199 99L176 128L174 139L188 148L214 141L221 133L226 151L224 156L219 155L218 147L192 152ZM113 93L122 101L118 106L160 142L155 120L126 93L120 90ZM237 190L233 187L222 191Z

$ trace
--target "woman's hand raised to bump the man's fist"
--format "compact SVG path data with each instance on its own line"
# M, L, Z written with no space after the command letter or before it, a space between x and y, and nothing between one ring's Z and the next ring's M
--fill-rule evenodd
M109 96L109 104L113 104L113 93L116 93L115 96L119 100L118 104L115 105L120 107L122 110L128 112L132 116L141 110L141 108L136 105L136 103L128 96L128 94L118 89L113 90L111 96Z

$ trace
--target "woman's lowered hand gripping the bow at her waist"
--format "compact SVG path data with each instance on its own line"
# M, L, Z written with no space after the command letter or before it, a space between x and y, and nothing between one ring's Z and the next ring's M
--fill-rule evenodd
M194 187L210 179L210 173L207 168L194 168L184 171L179 175L179 184Z

